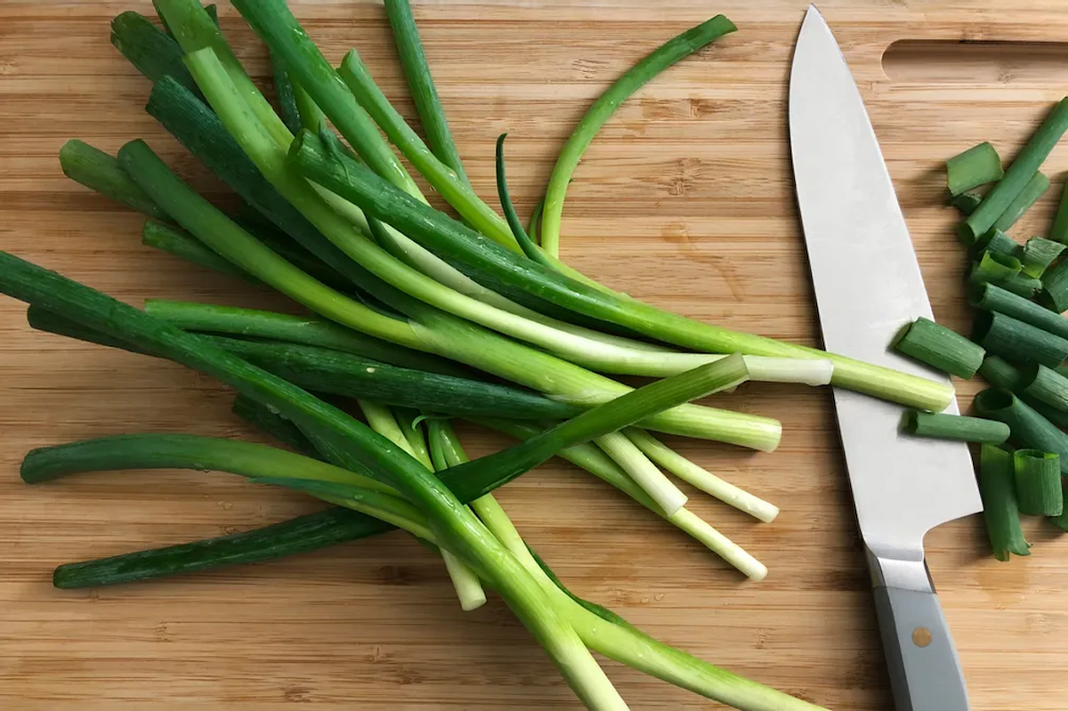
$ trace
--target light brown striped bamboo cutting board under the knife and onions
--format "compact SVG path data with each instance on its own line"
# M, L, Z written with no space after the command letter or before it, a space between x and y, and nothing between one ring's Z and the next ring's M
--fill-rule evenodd
M301 0L327 54L359 46L411 114L377 2ZM824 14L865 97L937 317L968 328L964 259L941 207L941 162L981 140L1010 157L1068 92L1057 45L932 40L1068 40L1058 0L851 0ZM794 206L786 78L803 0L530 0L421 3L438 86L478 191L492 142L509 138L525 214L590 101L666 38L723 12L740 31L626 104L579 169L564 256L637 297L724 326L818 344ZM143 137L193 184L221 187L141 111L148 85L108 44L108 20L145 0L0 3L0 248L139 304L145 297L286 307L277 296L139 243L141 219L66 180L69 138L108 151ZM223 28L257 77L265 52L231 7ZM882 52L898 44L881 62ZM1041 234L1055 190L1014 230ZM223 200L225 200L223 198ZM444 571L400 535L268 564L150 584L59 591L53 566L279 521L316 508L297 495L202 473L94 474L31 489L28 448L117 432L255 438L231 393L169 363L31 332L0 303L0 708L578 708L497 600L464 614ZM977 390L962 383L962 405ZM694 496L692 507L771 569L742 581L644 509L553 462L500 493L519 528L578 592L672 644L833 709L890 709L867 572L830 394L745 386L719 404L780 417L774 454L679 446L778 504L759 524ZM475 454L503 441L468 432ZM1065 707L1068 541L1028 522L1033 555L989 557L978 519L928 538L981 711ZM714 704L608 663L634 709ZM717 707L718 708L718 707Z

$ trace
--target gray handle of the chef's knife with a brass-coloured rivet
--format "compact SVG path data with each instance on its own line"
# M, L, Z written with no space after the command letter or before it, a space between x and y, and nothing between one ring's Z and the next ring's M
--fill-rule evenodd
M875 588L897 711L968 711L964 675L934 592Z

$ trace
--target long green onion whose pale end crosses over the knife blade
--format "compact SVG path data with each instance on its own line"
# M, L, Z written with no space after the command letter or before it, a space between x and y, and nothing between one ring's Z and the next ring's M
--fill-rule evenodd
M833 353L700 323L634 299L593 289L480 238L461 223L392 188L358 162L344 156L327 155L318 139L307 131L294 142L290 161L316 183L359 204L372 217L392 222L431 251L480 270L492 270L494 275L522 284L524 288L577 313L697 350L827 358L834 362L833 383L836 385L925 409L941 410L948 401L946 396L951 389L943 383L862 364Z

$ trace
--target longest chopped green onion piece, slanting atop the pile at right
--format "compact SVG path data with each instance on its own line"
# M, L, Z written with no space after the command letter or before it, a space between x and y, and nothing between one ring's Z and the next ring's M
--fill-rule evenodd
M994 226L994 222L1027 187L1065 129L1068 129L1068 99L1062 99L1050 111L1042 125L1005 171L1005 177L998 181L963 222L960 234L967 243L974 242L979 235Z

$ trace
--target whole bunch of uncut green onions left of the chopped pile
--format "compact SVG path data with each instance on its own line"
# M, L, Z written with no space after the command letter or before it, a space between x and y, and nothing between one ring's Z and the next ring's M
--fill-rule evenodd
M567 185L600 126L643 83L734 31L731 21L717 16L671 40L594 102L561 153L540 225L535 219L528 230L508 196L503 137L503 218L467 179L407 0L386 0L386 7L425 142L359 54L349 52L335 68L284 0L233 2L270 48L278 110L236 59L214 9L197 0L155 4L164 29L123 13L112 42L152 80L148 112L241 198L241 209L231 216L214 207L142 141L117 157L72 141L61 153L65 173L145 214L145 243L273 287L310 313L167 301L138 311L5 253L0 291L30 304L34 328L219 378L239 393L236 413L293 451L131 434L36 449L22 477L218 470L334 508L220 539L61 566L56 585L145 580L402 528L440 552L465 610L485 602L485 587L497 590L588 708L626 708L590 650L740 709L816 708L663 645L575 597L491 493L561 456L760 580L767 569L687 509L686 494L663 470L761 521L778 508L651 431L774 449L778 422L690 404L747 380L833 383L923 411L951 401L953 390L942 383L694 321L612 291L560 260ZM458 219L429 205L397 151ZM632 390L609 376L662 380ZM452 418L520 442L468 461Z

